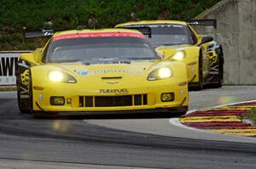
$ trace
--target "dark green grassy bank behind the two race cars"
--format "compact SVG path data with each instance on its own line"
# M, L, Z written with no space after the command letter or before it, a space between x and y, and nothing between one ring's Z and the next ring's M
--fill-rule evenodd
M220 0L1 0L0 50L34 49L47 39L24 41L22 28L113 27L131 20L190 20ZM133 16L131 16L133 15ZM90 24L90 18L96 22ZM51 23L49 25L48 23Z

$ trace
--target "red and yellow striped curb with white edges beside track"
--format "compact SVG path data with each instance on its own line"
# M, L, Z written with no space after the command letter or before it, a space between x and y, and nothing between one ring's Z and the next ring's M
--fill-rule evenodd
M256 108L256 100L223 104L202 110L189 110L186 115L170 119L170 122L177 127L200 132L256 137L256 126L241 119L241 115L254 107Z

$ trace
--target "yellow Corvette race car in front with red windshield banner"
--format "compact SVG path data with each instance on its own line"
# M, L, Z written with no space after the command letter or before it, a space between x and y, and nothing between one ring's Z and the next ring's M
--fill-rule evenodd
M26 37L40 37L27 33ZM183 62L161 57L127 29L44 31L44 48L21 54L16 70L21 113L108 114L188 110Z

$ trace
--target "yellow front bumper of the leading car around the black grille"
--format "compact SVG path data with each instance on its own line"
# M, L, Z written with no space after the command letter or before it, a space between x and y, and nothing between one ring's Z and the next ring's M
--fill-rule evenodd
M147 104L139 105L126 105L126 106L81 106L79 104L79 98L82 96L117 96L114 93L100 93L99 89L84 89L84 87L75 87L76 84L59 84L58 86L52 87L50 85L44 86L44 90L33 90L33 110L43 111L49 113L85 113L85 114L113 114L117 113L131 113L135 112L177 112L186 111L183 107L187 107L189 104L188 97L188 85L178 86L177 82L151 82L151 85L140 84L137 87L120 86L118 88L127 87L129 93L119 93L118 96L125 95L138 95L147 94ZM42 87L42 86L41 86ZM115 87L117 88L117 87ZM163 102L161 101L162 93L174 93L174 100ZM50 104L50 97L61 96L64 97L66 102L63 105L52 105ZM67 99L71 99L71 103L67 104Z

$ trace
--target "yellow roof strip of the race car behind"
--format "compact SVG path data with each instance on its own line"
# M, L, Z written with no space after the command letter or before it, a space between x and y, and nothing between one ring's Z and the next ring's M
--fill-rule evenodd
M115 27L121 27L121 26L125 26L125 25L152 25L152 24L187 25L186 22L178 21L178 20L141 20L141 21L125 22L123 24L116 25Z

